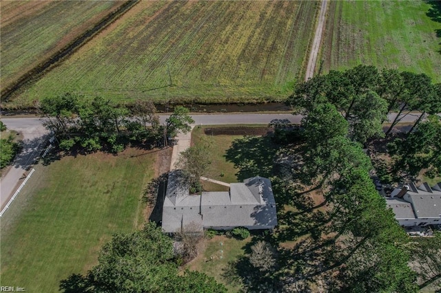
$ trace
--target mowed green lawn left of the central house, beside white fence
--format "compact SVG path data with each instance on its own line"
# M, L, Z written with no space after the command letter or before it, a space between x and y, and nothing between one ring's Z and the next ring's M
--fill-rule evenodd
M141 195L156 160L156 153L144 153L127 149L38 165L1 218L1 285L58 292L59 281L97 263L114 232L142 226Z

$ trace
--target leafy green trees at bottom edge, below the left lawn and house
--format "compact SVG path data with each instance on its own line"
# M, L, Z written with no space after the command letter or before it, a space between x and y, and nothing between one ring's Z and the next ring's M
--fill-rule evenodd
M143 230L114 235L99 254L99 264L87 276L74 274L61 281L67 292L226 292L201 272L178 272L172 239L150 222Z

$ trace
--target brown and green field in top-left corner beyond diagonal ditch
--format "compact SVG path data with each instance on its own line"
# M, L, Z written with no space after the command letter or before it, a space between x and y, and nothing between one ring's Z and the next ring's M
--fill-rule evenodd
M1 85L35 67L121 1L1 1Z

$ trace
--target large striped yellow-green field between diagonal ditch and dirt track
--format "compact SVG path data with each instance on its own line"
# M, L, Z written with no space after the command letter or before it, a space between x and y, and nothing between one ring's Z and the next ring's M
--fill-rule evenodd
M141 1L10 107L77 91L119 102L283 100L302 78L316 1Z

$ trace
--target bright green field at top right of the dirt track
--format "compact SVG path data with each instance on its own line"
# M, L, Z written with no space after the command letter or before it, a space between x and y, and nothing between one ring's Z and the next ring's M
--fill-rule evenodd
M440 8L421 0L331 1L320 56L324 71L367 64L441 82Z

